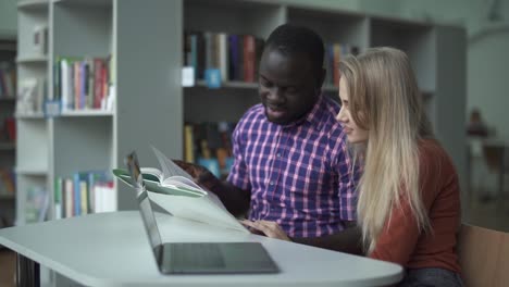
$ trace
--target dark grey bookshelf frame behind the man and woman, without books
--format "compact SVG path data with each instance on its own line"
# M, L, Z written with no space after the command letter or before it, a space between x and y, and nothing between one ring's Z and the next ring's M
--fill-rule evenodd
M467 46L463 28L278 1L185 0L183 3L183 30L266 38L277 25L294 23L318 32L325 45L348 43L360 51L392 46L406 51L434 130L451 155L460 182L464 183ZM323 87L323 92L337 99L338 89L331 84ZM236 121L248 107L259 102L257 85L252 83L225 82L220 89L208 89L198 82L195 87L184 88L183 96L185 122Z

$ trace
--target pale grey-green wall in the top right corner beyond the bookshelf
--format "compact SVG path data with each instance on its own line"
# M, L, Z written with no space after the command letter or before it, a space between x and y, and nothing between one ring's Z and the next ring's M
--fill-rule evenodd
M498 22L488 21L493 0L406 0L401 15L462 24L469 34L467 114L479 108L497 137L509 141L509 0L500 0Z

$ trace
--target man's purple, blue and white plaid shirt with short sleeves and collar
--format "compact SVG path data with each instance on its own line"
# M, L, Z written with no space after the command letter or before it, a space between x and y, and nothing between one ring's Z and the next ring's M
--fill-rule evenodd
M250 220L275 221L290 237L319 237L356 220L351 160L335 116L339 107L321 96L300 121L285 126L249 109L233 133L235 163L227 180L251 190Z

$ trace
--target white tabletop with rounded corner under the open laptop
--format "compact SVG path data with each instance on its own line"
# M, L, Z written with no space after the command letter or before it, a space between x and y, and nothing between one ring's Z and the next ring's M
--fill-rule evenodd
M162 275L138 211L99 213L0 229L0 245L87 286L382 286L399 265L215 228L157 214L163 241L260 241L281 269L270 275ZM35 263L35 269L38 269ZM23 266L22 266L23 267Z

